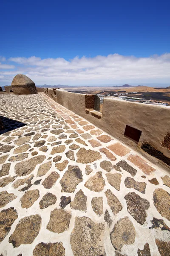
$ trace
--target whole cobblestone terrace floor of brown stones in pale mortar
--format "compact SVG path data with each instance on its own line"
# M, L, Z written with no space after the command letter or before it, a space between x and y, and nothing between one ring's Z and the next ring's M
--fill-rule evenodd
M170 255L163 169L44 94L0 105L1 256Z

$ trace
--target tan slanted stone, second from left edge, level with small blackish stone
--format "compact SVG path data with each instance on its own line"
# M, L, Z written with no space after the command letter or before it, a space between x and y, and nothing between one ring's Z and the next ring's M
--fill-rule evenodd
M20 199L22 208L31 207L35 201L40 197L40 192L38 189L27 191Z

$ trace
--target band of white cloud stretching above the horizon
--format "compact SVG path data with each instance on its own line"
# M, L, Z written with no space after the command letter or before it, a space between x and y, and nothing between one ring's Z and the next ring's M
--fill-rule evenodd
M18 73L30 77L36 84L51 85L170 82L170 53L147 58L113 54L98 55L94 58L77 56L70 61L64 58L41 59L35 56L4 60L6 64L0 64L1 84L4 81L11 83Z

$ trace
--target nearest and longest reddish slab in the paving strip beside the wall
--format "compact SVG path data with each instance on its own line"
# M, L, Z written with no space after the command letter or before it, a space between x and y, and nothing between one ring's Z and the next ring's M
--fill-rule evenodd
M139 169L142 170L146 175L150 175L152 172L155 172L156 169L149 166L141 157L138 155L130 155L127 157L127 160L129 160L131 163L139 167Z

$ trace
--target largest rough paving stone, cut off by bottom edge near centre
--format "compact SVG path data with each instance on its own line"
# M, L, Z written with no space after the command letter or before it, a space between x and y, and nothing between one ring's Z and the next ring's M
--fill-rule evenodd
M74 256L106 256L103 234L104 225L102 223L96 224L85 216L76 217L70 239Z

